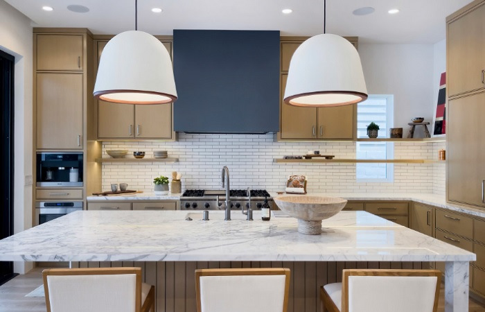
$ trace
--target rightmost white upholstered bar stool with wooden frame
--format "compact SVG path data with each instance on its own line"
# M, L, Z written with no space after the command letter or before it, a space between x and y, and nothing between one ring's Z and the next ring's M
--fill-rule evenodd
M439 270L343 270L342 283L320 288L322 311L436 312Z

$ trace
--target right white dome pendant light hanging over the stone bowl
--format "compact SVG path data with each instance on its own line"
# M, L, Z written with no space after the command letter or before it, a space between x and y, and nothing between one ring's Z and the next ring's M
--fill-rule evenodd
M285 103L331 107L366 99L367 87L359 53L348 40L324 33L306 40L294 52L283 98Z

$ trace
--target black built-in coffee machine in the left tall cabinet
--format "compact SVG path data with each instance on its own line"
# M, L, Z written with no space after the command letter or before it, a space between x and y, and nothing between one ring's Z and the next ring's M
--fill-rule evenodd
M82 187L82 153L37 153L37 187Z

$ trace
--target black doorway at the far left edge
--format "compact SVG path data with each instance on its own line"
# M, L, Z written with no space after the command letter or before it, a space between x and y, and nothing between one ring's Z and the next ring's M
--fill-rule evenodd
M14 66L15 58L0 51L0 239L13 235ZM0 262L0 285L13 276L13 262Z

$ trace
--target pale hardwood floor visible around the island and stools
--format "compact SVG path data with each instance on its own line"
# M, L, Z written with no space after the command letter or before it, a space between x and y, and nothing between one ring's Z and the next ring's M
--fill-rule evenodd
M19 275L0 286L0 312L45 312L44 297L25 297L42 285L42 268L34 269L26 275ZM485 312L485 305L470 298L469 312ZM439 294L438 311L445 311L443 285ZM170 311L171 312L171 311ZM192 312L192 311L188 311Z

